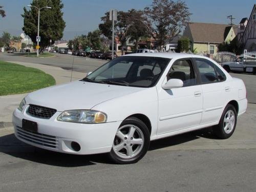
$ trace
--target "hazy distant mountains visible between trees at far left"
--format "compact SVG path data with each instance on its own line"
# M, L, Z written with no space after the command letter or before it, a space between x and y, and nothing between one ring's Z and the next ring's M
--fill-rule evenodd
M23 30L18 30L18 29L5 29L5 30L0 30L0 36L2 36L3 32L8 32L11 34L11 36L19 36L20 33L24 33ZM70 40L70 39L74 39L75 36L78 35L87 35L88 31L84 30L84 31L64 31L64 35L62 37L62 39L65 40Z

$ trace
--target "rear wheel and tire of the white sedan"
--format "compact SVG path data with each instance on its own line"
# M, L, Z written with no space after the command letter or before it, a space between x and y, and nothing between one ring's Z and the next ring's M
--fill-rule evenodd
M233 105L227 104L224 109L220 122L213 127L214 134L220 139L229 138L236 129L237 125L237 111Z

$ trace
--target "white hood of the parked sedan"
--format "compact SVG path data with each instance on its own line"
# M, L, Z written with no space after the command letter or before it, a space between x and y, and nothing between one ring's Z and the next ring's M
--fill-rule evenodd
M26 96L27 104L35 104L57 111L92 109L104 101L141 91L145 88L73 81L32 92Z

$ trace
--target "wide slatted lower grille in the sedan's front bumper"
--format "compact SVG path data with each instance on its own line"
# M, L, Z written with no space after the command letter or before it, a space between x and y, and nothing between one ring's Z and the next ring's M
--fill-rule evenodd
M19 126L16 126L16 128L17 136L21 139L51 148L57 148L58 146L58 139L55 136L32 132Z

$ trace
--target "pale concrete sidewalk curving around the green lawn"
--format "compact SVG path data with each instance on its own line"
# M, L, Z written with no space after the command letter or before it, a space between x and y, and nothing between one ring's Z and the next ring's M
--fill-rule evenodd
M19 65L23 65L26 67L33 67L39 70L42 70L50 75L52 75L56 81L56 84L61 84L65 82L69 82L71 78L71 71L64 70L58 67L40 65L37 63L27 63L27 62L17 62ZM86 76L86 73L80 73L73 71L72 81L81 79ZM17 108L20 101L27 95L25 94L17 94L17 95L6 95L0 96L0 129L3 127L11 127L12 126L12 112Z

